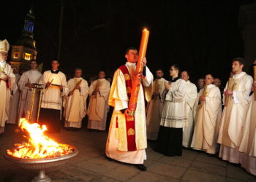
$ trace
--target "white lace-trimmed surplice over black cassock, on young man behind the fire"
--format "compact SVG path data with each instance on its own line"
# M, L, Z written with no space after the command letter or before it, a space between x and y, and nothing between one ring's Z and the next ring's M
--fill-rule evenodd
M53 81L52 84L45 88L45 84L51 81ZM59 71L58 74L52 74L50 70L45 71L42 75L42 79L39 81L39 84L42 84L45 88L42 92L41 108L52 108L61 111L62 97L67 95L68 92L65 74L63 74L61 71ZM58 85L62 85L62 92Z

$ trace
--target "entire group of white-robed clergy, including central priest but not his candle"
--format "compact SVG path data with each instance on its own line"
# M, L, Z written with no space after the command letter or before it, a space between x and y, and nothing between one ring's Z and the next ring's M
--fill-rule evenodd
M127 63L115 72L112 86L104 71L89 85L81 68L67 81L59 71L59 60L52 60L51 70L43 74L37 70L37 61L31 60L31 69L20 75L17 67L6 62L8 50L7 40L0 41L0 135L5 123L19 124L22 117L46 124L48 132L59 132L61 120L66 128L80 128L87 115L89 129L106 130L113 106L106 148L110 159L141 165L150 140L155 141L154 150L166 156L181 156L184 148L205 151L256 175L256 81L243 71L243 58L233 59L225 88L211 74L193 84L188 71L176 64L170 66L169 81L162 69L157 69L153 81L144 58L141 85L150 87L151 95L148 99L146 89L140 87L135 133L131 132L137 148L129 150L130 133L122 114L129 104L135 48L125 53Z

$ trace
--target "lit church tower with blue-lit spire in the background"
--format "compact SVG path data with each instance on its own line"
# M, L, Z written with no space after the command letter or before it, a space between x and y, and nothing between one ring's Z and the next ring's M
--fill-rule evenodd
M33 9L25 17L23 33L17 44L12 45L10 63L19 69L29 70L31 60L37 59L36 41L34 37Z

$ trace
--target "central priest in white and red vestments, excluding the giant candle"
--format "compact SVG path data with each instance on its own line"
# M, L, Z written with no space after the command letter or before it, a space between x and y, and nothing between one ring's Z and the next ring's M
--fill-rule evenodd
M145 101L143 94L143 85L146 90L150 90L153 75L146 67L146 58L143 58L143 76L138 92L138 102L135 111L134 121L128 121L124 111L129 106L129 97L132 91L132 79L135 73L136 62L138 60L138 51L135 48L128 48L125 54L127 63L120 66L113 77L113 82L110 90L110 97L108 103L114 107L113 116L110 122L108 132L108 141L106 144L106 155L111 159L119 162L126 162L138 167L139 170L146 170L143 165L146 160L146 113ZM146 98L151 98L151 95ZM148 100L148 99L147 99ZM149 101L149 100L148 100ZM128 122L135 123L135 130L130 127L127 131ZM131 138L135 137L135 138ZM128 138L128 139L127 139ZM130 149L129 143L134 144L136 149Z

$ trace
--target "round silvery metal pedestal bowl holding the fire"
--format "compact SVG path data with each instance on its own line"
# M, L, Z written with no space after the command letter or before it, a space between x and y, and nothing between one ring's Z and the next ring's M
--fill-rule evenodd
M69 145L67 145L69 146ZM78 150L75 149L74 146L69 146L74 149L72 153L61 156L61 157L51 157L51 158L44 158L44 159L23 159L18 157L12 157L7 153L4 154L4 159L10 162L14 162L15 164L19 165L28 170L39 170L39 174L34 177L32 181L37 182L50 182L50 178L45 175L45 170L51 167L56 167L59 165L63 165L67 162L67 159L75 157L78 154Z

